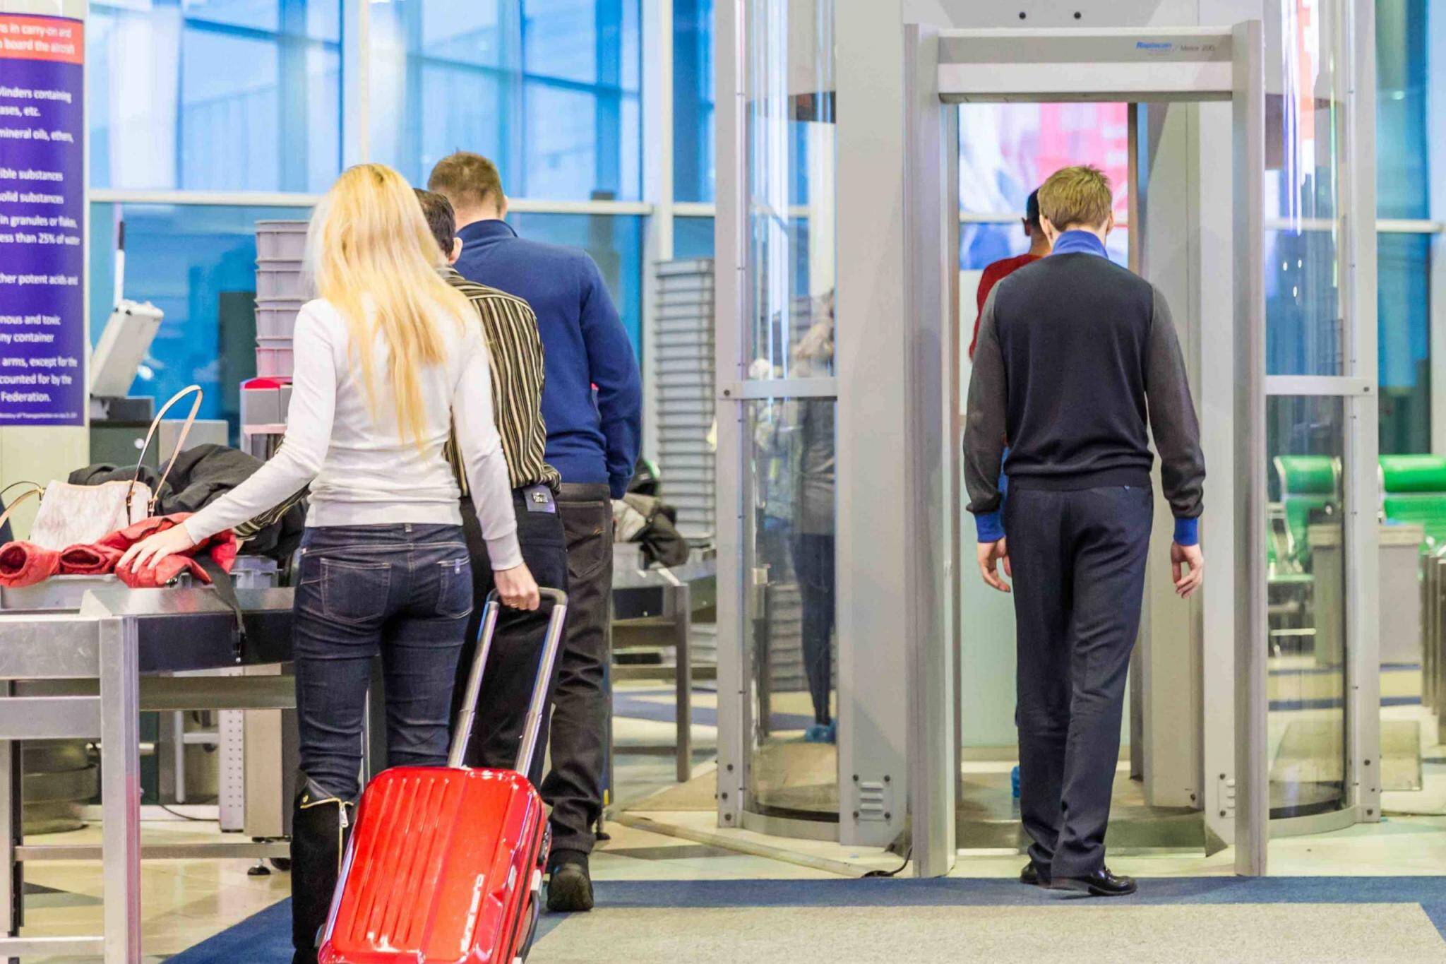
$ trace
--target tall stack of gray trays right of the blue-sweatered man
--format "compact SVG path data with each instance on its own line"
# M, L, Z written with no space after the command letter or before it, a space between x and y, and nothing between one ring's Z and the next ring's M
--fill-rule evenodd
M717 483L713 432L713 260L661 262L654 340L658 462L678 532L711 539Z

